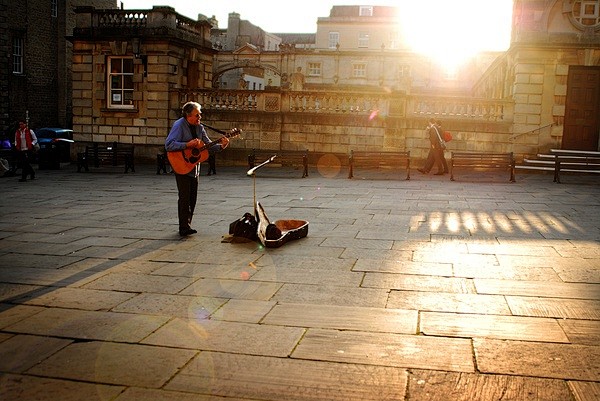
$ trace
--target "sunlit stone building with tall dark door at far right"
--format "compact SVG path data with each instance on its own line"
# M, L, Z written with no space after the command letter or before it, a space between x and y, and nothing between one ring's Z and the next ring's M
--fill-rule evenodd
M518 153L599 150L600 2L515 0L511 47L473 92L514 102Z

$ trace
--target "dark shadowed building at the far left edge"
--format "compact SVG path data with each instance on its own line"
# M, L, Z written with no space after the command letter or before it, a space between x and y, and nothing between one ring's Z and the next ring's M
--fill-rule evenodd
M0 1L0 129L71 126L71 46L78 5L116 8L115 0Z

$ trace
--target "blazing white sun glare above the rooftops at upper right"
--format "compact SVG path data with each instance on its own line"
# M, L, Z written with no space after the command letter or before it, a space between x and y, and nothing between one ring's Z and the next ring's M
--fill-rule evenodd
M512 0L404 2L400 25L414 51L453 69L482 50L510 44Z

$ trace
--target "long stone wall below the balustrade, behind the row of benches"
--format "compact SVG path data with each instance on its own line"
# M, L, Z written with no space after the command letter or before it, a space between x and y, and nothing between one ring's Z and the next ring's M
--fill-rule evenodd
M298 113L204 111L204 123L227 131L243 130L231 141L231 149L220 158L245 163L251 149L304 150L344 158L355 151L410 151L416 160L429 152L425 127L430 116L385 116L369 120L364 115L317 115ZM448 151L513 152L511 122L482 122L468 119L441 119L444 130L452 132ZM218 137L218 134L209 135ZM517 155L518 158L523 155ZM312 159L314 160L314 158Z

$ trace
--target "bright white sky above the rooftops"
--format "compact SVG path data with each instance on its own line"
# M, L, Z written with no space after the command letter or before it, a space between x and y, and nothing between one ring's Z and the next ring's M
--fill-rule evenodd
M317 18L334 5L381 5L401 9L401 30L415 51L465 58L481 50L503 51L510 44L513 0L117 0L125 9L170 6L196 20L213 15L227 28L228 15L240 14L271 33L315 33ZM434 26L437 29L428 29Z

